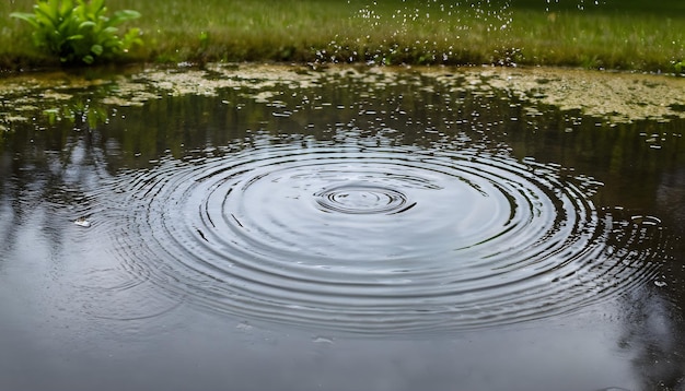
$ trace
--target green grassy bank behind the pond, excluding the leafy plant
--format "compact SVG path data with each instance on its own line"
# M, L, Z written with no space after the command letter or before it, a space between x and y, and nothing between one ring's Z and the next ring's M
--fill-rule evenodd
M127 60L543 64L673 72L685 60L685 2L108 0L135 9L144 47ZM57 64L0 3L0 67Z

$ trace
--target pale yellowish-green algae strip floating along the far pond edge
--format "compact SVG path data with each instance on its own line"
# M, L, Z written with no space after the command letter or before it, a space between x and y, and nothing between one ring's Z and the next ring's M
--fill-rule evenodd
M411 73L417 78L402 78ZM393 83L413 83L433 90L421 78L460 94L494 96L503 92L529 104L525 111L541 115L537 105L601 118L612 123L685 118L682 109L685 79L669 75L597 72L558 68L421 68L359 66L207 64L204 68L151 68L100 78L66 71L23 74L0 81L0 126L36 120L47 109L69 109L72 100L116 109L142 106L164 96L218 96L234 88L258 103L278 104L279 95L334 78L349 78L373 90Z

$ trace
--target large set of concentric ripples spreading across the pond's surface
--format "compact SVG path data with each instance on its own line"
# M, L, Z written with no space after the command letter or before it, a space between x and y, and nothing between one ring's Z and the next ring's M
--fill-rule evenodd
M596 183L477 149L313 142L121 175L120 254L212 310L355 332L577 310L649 281L658 227Z

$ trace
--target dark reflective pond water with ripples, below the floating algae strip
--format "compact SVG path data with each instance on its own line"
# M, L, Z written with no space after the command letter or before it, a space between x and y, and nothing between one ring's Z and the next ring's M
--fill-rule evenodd
M685 122L385 78L5 133L3 389L684 389Z

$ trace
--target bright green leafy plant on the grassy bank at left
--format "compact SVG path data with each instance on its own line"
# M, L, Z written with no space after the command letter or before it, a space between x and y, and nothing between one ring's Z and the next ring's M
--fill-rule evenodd
M117 26L140 17L139 12L117 11L112 17L106 13L104 0L38 0L34 13L13 12L10 16L31 24L34 44L61 62L92 64L142 45L138 28L129 28L123 37L117 35Z

